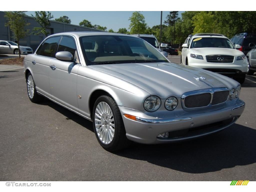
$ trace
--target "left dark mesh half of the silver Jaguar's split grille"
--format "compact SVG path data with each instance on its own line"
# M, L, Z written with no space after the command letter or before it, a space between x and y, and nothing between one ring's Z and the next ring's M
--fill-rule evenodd
M184 104L186 108L205 107L210 104L210 101L211 93L201 93L187 96Z

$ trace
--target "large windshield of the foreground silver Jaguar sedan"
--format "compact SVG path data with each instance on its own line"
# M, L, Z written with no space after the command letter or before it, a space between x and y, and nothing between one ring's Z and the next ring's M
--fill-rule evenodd
M137 37L97 35L80 37L87 65L168 62L158 50Z

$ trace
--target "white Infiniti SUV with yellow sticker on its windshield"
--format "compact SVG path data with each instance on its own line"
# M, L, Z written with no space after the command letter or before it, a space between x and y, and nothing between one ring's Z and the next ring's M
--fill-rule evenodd
M240 45L233 45L220 34L189 35L182 45L181 64L206 69L228 77L239 83L245 80L248 61Z

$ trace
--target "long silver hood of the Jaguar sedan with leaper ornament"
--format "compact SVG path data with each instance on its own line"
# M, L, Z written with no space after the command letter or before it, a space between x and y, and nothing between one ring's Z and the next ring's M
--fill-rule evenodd
M89 67L130 82L161 99L170 96L180 98L188 91L238 86L238 82L231 78L175 63L123 63ZM200 77L206 79L200 81L197 79Z

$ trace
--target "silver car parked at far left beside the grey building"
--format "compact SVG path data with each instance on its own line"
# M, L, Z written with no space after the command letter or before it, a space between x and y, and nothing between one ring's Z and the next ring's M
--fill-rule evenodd
M19 46L20 54L32 54L31 47ZM13 41L0 41L0 54L15 54L18 55L18 44Z

